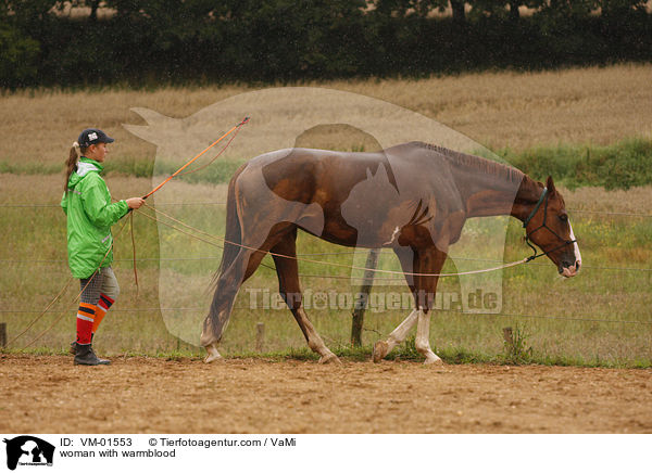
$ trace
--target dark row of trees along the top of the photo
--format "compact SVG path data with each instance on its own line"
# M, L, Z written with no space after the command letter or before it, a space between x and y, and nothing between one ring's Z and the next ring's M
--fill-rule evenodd
M0 87L288 82L650 61L647 3L0 0ZM71 7L86 9L71 14Z

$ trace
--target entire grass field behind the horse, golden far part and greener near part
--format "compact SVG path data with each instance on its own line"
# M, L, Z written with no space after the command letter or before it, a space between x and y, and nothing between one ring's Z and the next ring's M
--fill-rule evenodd
M432 78L422 81L363 81L322 85L381 98L421 112L489 148L510 149L526 155L536 146L613 145L632 138L652 136L652 91L649 66L570 69L517 75L510 73ZM65 220L57 207L62 177L48 174L60 166L79 129L98 125L120 141L110 159L151 163L155 148L122 128L121 124L143 124L129 112L131 106L150 107L183 118L221 99L246 91L243 88L164 89L154 91L33 91L0 98L0 161L11 163L13 172L0 175L0 322L8 324L12 338L45 308L63 287L70 271L65 263ZM85 106L79 104L84 103ZM21 110L15 120L9 111ZM4 112L8 111L8 112ZM311 112L312 113L312 112ZM317 113L316 111L314 113ZM37 140L34 140L38 130ZM240 138L239 138L240 139ZM305 138L311 145L356 149L359 133L323 128ZM120 145L118 145L120 144ZM372 146L368 144L368 146ZM236 161L238 157L236 156ZM543 164L540 164L544 166ZM34 169L36 167L36 170ZM39 171L38 168L42 169ZM28 169L29 168L29 169ZM24 171L28 170L25 175ZM5 169L7 170L7 169ZM40 172L40 174L39 174ZM156 181L156 178L153 179ZM108 177L116 199L141 195L152 179ZM174 206L180 195L192 202L224 202L225 187L208 183L175 183L156 194L158 208L184 221L223 234L224 208L210 207L214 217L206 220L206 206ZM521 334L521 361L599 366L652 366L652 302L650 260L652 259L652 218L619 213L652 214L652 190L637 187L628 191L605 191L581 187L564 190L564 196L580 241L584 269L578 278L563 281L549 260L538 259L506 270L502 281L501 315L463 315L440 310L434 318L431 344L446 360L502 360L502 328L513 327ZM148 201L149 202L149 201ZM188 200L186 200L188 202ZM11 205L41 204L28 208ZM613 214L595 214L613 213ZM511 221L505 261L528 255L518 222ZM114 227L117 234L123 222ZM97 338L101 354L141 353L165 356L198 355L200 350L173 336L165 327L203 317L210 276L218 265L221 250L180 233L159 232L142 215L134 219L137 241L138 295L133 284L131 243L128 223L116 238L116 270L122 285L120 302L106 317ZM161 238L165 241L161 241ZM301 235L299 253L331 253L346 248ZM161 250L164 248L164 250ZM161 252L163 251L164 254ZM201 260L170 261L163 257L203 257ZM481 255L480 255L481 256ZM329 261L351 263L351 255L325 256ZM358 260L355 260L359 263ZM273 263L266 261L273 266ZM479 267L493 266L480 261ZM629 268L629 269L624 269ZM301 264L304 274L349 276L341 268ZM452 272L448 264L444 271ZM159 295L160 281L179 280L178 293ZM193 291L180 282L190 281ZM33 349L65 349L74 334L76 282L51 312L39 320L12 347L23 347L59 317L61 320L36 342ZM348 279L302 279L304 290L350 292ZM226 332L223 349L227 355L250 354L255 347L255 324L265 323L264 350L309 356L303 337L286 309L249 308L250 292L276 292L273 270L260 268L240 292L237 308ZM441 292L454 293L459 281L442 280ZM374 290L387 292L384 286ZM402 284L391 291L406 291ZM171 304L171 301L178 302ZM181 307L173 317L167 310ZM201 307L201 308L200 308ZM337 353L364 357L369 346L386 336L405 310L378 309L367 312L362 350L349 348L350 311L312 308L309 315L327 345ZM518 316L518 317L515 317ZM581 320L580 320L581 319ZM606 322L609 321L609 322ZM625 323L627 322L627 323ZM629 323L632 322L632 323ZM642 323L641 323L642 322ZM529 350L531 348L531 350ZM415 357L405 346L399 356ZM279 355L279 356L280 356Z

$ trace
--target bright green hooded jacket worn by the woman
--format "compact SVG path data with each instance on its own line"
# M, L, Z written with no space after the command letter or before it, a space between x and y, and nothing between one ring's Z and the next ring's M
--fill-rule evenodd
M67 216L68 266L77 279L90 278L100 264L104 268L113 263L111 226L129 209L125 201L111 203L100 176L103 169L97 161L82 156L61 199Z

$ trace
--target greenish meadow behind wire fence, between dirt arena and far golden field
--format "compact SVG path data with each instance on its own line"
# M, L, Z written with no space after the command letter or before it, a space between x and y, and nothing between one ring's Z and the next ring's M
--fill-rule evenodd
M16 202L16 192L24 188L39 188L49 195L59 193L60 183L51 177L11 175L0 176L3 202ZM109 179L115 197L126 196L127 192L145 191L149 180L120 178ZM186 184L183 184L186 186ZM193 186L193 191L198 187ZM224 187L212 189L200 186L198 202L222 201ZM531 347L531 356L539 362L580 363L603 366L650 366L652 360L652 331L650 320L651 272L649 261L652 256L652 219L649 217L625 217L618 215L604 216L585 214L579 210L590 208L613 213L639 212L652 214L652 195L649 189L635 189L607 193L600 189L584 188L575 192L565 191L564 195L572 212L574 229L580 239L585 267L579 277L564 281L556 277L556 270L548 260L538 259L527 266L509 269L503 279L502 315L463 315L454 310L438 311L431 330L431 343L439 353L449 360L500 359L504 354L502 328L514 327L525 335L524 351ZM163 196L156 204L159 208L171 212L164 204ZM20 202L20 201L18 201ZM41 201L42 202L42 201ZM46 202L54 203L52 200ZM635 206L634 202L643 202L645 206ZM185 221L197 225L197 217L205 213L201 206L187 206L184 210L173 212L185 215ZM17 334L36 317L51 298L61 290L68 270L65 264L65 222L57 207L3 207L2 239L5 242L0 259L4 267L0 280L2 294L2 321L8 323L10 337ZM215 215L223 216L220 206ZM223 218L223 217L222 217ZM218 219L220 220L220 219ZM117 226L114 233L120 231ZM215 234L222 234L217 222ZM47 228L43 232L41 229ZM211 226L201 226L211 229ZM140 283L136 294L131 271L131 243L128 226L116 241L116 263L114 269L122 284L122 295L111 317L108 317L97 345L102 353L142 353L142 354L199 354L192 346L171 335L164 320L176 323L171 318L170 308L181 307L175 311L183 317L197 320L205 314L205 287L210 276L217 267L220 250L214 245L197 242L184 234L175 234L172 247L178 248L177 255L165 254L165 257L196 257L203 255L205 259L191 261L159 261L159 234L153 221L142 215L135 217L137 254ZM510 225L505 260L511 261L528 255L521 240L522 229L515 221ZM170 248L170 246L167 246ZM301 235L299 253L342 252L337 247L310 235ZM327 256L329 261L351 263L351 255ZM18 261L18 260L27 261ZM268 259L268 258L267 258ZM35 260L29 263L28 260ZM266 264L273 266L271 260ZM491 265L489 263L479 264ZM609 269L607 269L609 268ZM619 270L632 268L637 270ZM447 265L446 271L454 271L453 265ZM647 269L647 271L645 271ZM171 274L170 271L173 271ZM341 268L324 268L314 264L300 264L304 274L337 273L349 276ZM171 302L165 297L162 304L159 297L159 278L178 281L178 297ZM187 290L185 283L195 286ZM442 280L441 292L457 291L456 280ZM304 290L315 292L337 291L351 292L349 280L323 280L302 278ZM174 286L174 284L173 284ZM234 311L231 323L225 336L223 348L228 355L241 355L253 351L255 347L255 324L264 322L266 328L265 350L286 351L288 348L299 350L305 356L303 337L288 310L283 308L262 308L261 302L255 309L250 309L251 290L267 291L271 296L276 292L277 282L273 270L261 267L259 272L244 285ZM403 284L377 286L376 292L387 291L405 293ZM43 317L15 346L21 347L48 328L60 311L67 311L61 322L49 331L35 346L48 349L65 349L74 332L75 305L70 304L77 293L77 286L68 287L62 302L52 312ZM195 297L188 294L199 294ZM204 295L202 297L202 294ZM258 293L262 297L262 292ZM175 303L176 302L176 303ZM160 310L160 307L163 310ZM369 310L366 316L363 340L366 349L351 351L350 311L311 308L309 314L327 344L340 353L363 356L377 338L387 335L405 316L405 310L388 310L380 306ZM512 317L525 315L526 317ZM567 319L567 320L560 320ZM578 319L590 319L581 321ZM611 322L599 322L610 320ZM635 323L619 323L630 321ZM648 322L640 324L636 322ZM183 323L180 321L179 323ZM287 353L287 351L286 351ZM414 350L405 347L403 356L416 356Z

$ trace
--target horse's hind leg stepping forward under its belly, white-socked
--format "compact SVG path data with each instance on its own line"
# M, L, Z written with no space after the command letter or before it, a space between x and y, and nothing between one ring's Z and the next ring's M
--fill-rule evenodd
M303 336L308 342L308 346L319 355L321 363L336 362L339 363L337 356L330 351L324 341L308 319L305 310L301 306L301 287L299 285L299 267L297 265L297 228L294 227L279 243L272 250L272 253L287 255L289 258L281 256L273 256L276 265L276 273L278 276L278 292L292 311Z

